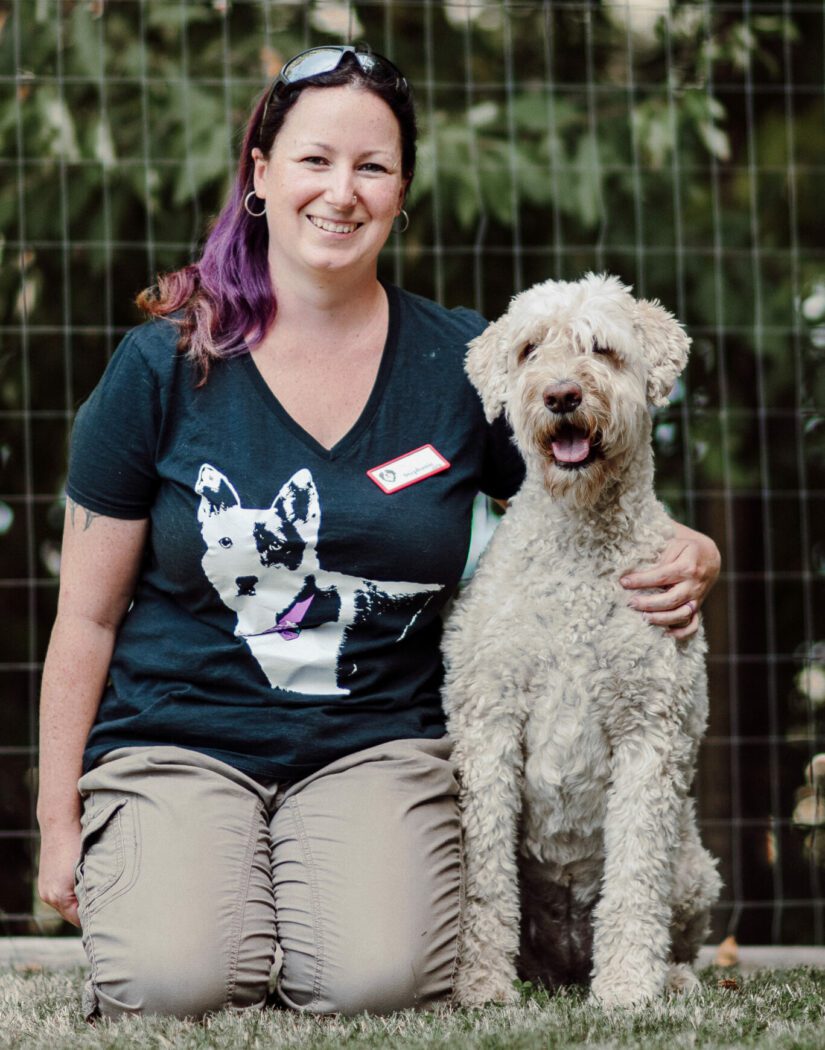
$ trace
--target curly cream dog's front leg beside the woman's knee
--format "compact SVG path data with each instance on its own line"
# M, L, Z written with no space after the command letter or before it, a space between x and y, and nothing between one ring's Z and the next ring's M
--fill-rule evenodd
M465 864L453 998L461 1006L514 1002L521 719L513 712L495 719L453 716L450 732L457 738L453 759L461 780Z

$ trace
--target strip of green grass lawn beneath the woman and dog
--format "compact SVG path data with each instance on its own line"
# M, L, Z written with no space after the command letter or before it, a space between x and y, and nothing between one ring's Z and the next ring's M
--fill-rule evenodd
M825 969L762 970L746 976L708 968L702 990L637 1012L609 1014L590 1005L581 989L555 995L523 989L515 1007L386 1017L314 1018L285 1010L246 1015L221 1012L203 1023L127 1018L80 1020L80 970L0 972L0 1047L42 1050L148 1050L175 1047L332 1050L334 1047L478 1048L478 1050L592 1050L638 1047L695 1050L825 1048ZM721 982L726 980L728 986Z

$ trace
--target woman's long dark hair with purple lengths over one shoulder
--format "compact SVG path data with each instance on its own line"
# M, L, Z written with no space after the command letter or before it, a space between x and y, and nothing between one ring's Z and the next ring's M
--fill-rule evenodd
M206 382L211 363L257 345L275 318L267 251L267 224L244 207L253 189L252 150L269 156L287 113L308 87L352 85L372 91L395 113L401 132L401 168L407 188L416 170L416 111L409 90L367 76L352 52L331 72L308 77L283 94L270 89L258 99L244 135L235 181L196 262L161 274L145 289L138 306L154 317L169 317L179 328L178 349L195 361ZM268 103L269 99L269 103ZM266 119L263 117L266 110ZM170 316L174 315L174 316Z

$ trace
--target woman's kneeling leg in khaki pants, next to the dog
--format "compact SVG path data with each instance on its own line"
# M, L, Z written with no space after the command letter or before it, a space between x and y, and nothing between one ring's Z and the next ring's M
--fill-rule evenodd
M393 741L285 793L271 826L288 1006L386 1013L449 994L461 897L449 751Z

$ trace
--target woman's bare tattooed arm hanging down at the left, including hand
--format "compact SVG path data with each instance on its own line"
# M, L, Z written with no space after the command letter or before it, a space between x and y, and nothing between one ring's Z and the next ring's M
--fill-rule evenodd
M38 891L76 926L83 749L106 685L118 627L131 601L147 529L148 519L123 521L92 513L71 500L66 504L58 614L40 698Z

